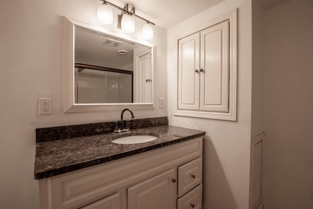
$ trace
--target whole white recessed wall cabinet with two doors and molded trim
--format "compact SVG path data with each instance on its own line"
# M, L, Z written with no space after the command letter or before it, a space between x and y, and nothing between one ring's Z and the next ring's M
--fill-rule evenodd
M176 116L236 120L236 11L176 37Z

